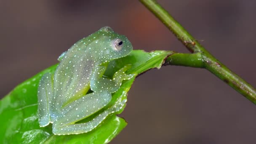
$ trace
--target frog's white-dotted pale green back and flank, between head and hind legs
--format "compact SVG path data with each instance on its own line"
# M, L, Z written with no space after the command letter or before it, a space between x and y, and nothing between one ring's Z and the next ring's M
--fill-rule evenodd
M60 107L85 95L90 88L90 77L95 61L86 41L88 37L69 48L54 74L53 95L56 100L53 101L60 102Z

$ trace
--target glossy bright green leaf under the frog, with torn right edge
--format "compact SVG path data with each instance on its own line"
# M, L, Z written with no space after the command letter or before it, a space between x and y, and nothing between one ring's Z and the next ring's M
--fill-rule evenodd
M147 53L141 50L133 50L128 56L111 61L104 75L112 77L118 69L126 64L132 65L127 73L136 75L152 68L159 69L166 57L171 54L173 54L171 51ZM56 67L57 64L24 81L0 101L0 123L2 127L0 128L0 143L104 144L111 141L125 128L127 125L125 120L117 117L117 114L120 114L125 106L119 112L109 115L101 125L88 133L57 136L52 133L52 125L41 128L37 118L37 86L43 74L46 72L53 73ZM115 101L127 100L127 92L134 80L135 77L124 80L120 89L112 94L112 101L106 108L115 104Z

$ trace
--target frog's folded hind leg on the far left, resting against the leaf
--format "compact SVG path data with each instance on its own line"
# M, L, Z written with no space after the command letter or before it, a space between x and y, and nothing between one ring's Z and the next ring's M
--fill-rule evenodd
M44 127L50 123L49 103L53 95L53 83L50 73L46 73L40 80L37 99L38 99L38 121L40 127Z

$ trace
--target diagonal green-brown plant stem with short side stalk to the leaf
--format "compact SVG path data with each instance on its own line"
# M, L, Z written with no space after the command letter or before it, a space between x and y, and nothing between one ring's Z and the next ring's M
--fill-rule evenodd
M256 89L253 88L249 83L245 82L245 80L243 80L241 77L236 75L234 72L229 70L224 64L222 64L214 56L212 56L207 50L205 50L205 48L203 48L203 46L200 45L200 43L198 43L198 41L195 40L194 37L192 37L192 35L190 35L176 20L174 20L173 17L159 3L157 3L156 0L140 0L140 1L149 9L149 11L154 13L155 16L160 21L162 21L162 23L165 24L165 26L171 32L173 32L173 34L178 38L178 40L180 40L181 43L183 43L191 53L195 53L195 54L200 53L203 61L203 68L212 72L214 75L219 77L225 83L230 85L236 91L238 91L247 99L249 99L254 104L256 104ZM173 64L173 65L193 67L193 65L186 64L186 61L183 61L183 60L181 60L180 61L181 63L179 63L178 61L179 55L176 55L176 57L174 56L175 58L174 57L170 58L170 57L167 60L172 60L173 62L176 62L176 64ZM182 58L183 56L180 56L180 57ZM169 64L172 64L171 61L169 62L170 62ZM198 67L202 66L200 64L199 65L195 64L195 65Z

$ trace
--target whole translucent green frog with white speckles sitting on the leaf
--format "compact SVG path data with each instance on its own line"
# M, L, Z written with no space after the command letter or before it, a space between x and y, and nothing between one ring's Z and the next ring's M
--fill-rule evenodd
M131 51L127 37L103 27L62 53L54 75L46 73L39 83L40 126L53 123L53 133L57 135L86 133L120 110L122 107L115 105L86 123L76 123L105 107L122 80L133 77L125 74L128 66L118 70L112 80L102 77L109 61L127 56ZM86 94L90 88L93 92Z

